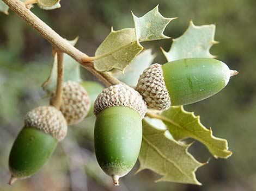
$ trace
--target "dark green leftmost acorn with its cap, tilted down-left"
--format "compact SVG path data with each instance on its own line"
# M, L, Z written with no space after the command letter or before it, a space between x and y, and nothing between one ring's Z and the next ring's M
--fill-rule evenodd
M9 184L35 174L52 155L58 141L64 139L67 128L63 114L53 106L29 111L10 151Z

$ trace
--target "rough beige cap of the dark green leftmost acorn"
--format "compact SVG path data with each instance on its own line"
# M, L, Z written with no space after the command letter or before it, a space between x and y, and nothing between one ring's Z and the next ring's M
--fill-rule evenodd
M25 116L25 126L38 128L58 141L62 141L68 131L62 112L53 106L39 106L29 111Z

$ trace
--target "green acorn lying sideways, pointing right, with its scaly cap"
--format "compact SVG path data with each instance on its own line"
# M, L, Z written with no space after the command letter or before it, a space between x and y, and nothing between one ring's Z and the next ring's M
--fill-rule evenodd
M211 58L155 63L141 74L136 90L149 109L167 110L170 105L187 105L211 97L236 74L224 62Z

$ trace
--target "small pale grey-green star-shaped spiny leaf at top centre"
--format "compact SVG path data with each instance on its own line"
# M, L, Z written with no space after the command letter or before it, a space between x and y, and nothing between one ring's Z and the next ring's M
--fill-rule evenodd
M135 23L136 37L139 42L169 39L163 34L164 29L170 21L175 18L165 18L159 12L159 5L147 12L142 17L137 17L132 12Z

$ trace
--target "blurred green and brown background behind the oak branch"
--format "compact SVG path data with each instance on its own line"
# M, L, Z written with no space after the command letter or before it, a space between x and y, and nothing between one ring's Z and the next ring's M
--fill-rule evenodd
M133 27L131 10L142 16L156 5L153 0L61 3L61 9L43 11L35 7L32 11L66 39L80 36L77 47L89 55L94 55L111 26L115 30ZM209 164L196 173L203 186L154 183L159 176L149 170L133 175L137 164L114 188L95 162L94 117L89 117L69 129L68 137L38 174L8 186L11 145L23 126L26 112L48 103L40 85L48 77L52 63L50 43L10 11L9 16L0 14L0 190L256 190L256 1L158 3L164 16L179 17L167 27L167 36L179 37L191 19L196 25L216 23L215 40L220 44L214 45L211 53L240 73L214 97L185 109L200 115L202 123L211 126L215 136L227 139L233 156L216 160L196 142L190 152L200 162L210 158ZM164 63L159 47L169 50L170 44L170 40L161 40L145 46L157 53L155 62ZM96 80L84 69L82 74L83 79Z

